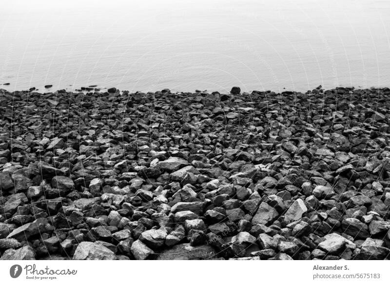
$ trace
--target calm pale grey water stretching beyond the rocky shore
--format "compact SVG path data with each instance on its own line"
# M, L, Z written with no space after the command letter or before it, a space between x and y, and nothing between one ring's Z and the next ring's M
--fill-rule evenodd
M11 91L390 86L387 0L0 0L0 7L0 83L11 83L0 87Z

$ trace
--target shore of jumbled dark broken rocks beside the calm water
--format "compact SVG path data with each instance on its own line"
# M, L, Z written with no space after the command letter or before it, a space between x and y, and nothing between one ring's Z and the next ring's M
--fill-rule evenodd
M390 89L0 89L1 260L382 260Z

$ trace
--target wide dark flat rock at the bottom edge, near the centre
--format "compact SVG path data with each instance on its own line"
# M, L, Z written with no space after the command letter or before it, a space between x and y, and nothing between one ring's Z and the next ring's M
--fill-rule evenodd
M163 250L157 260L211 260L217 258L217 252L209 245L191 246L189 243L176 244Z

